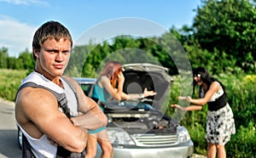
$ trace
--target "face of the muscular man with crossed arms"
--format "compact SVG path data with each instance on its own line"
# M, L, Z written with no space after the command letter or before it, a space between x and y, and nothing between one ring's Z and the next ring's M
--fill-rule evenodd
M39 70L49 79L61 76L70 58L71 42L61 38L55 41L48 38L42 45L40 52L35 54L39 58Z

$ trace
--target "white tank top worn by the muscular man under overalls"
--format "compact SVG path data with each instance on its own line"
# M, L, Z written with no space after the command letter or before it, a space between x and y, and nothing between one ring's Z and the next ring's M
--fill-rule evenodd
M70 113L72 116L78 116L78 104L75 94L71 87L68 86L67 82L61 79L63 83L63 87L61 88L56 85L54 82L49 81L46 77L39 74L38 72L32 72L29 76L27 76L22 82L21 85L26 82L34 82L38 85L49 87L50 89L54 90L56 93L65 93L67 97L67 105L70 109ZM59 108L61 110L61 108ZM17 123L20 127L19 123ZM44 134L41 138L32 138L26 131L20 127L22 133L27 138L27 141L32 146L33 154L38 158L49 157L54 158L56 157L57 147L55 145L50 144L47 136Z

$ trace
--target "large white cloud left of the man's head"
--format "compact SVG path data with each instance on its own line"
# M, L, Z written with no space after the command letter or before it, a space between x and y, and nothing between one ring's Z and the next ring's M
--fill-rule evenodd
M32 36L37 27L0 16L0 48L8 48L9 56L18 56L26 48L32 51Z

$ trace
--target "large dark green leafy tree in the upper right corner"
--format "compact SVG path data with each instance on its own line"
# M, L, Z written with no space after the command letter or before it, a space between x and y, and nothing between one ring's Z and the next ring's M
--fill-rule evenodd
M206 0L193 29L201 48L228 54L244 71L255 72L256 10L249 0Z

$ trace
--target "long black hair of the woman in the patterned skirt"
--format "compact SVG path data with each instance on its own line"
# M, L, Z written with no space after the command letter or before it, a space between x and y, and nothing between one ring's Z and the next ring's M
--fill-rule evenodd
M201 81L207 84L207 91L210 88L212 82L219 82L217 78L214 78L213 76L210 75L210 73L207 71L206 68L197 67L193 70L193 95L195 94L195 86L197 85L197 82L195 82L195 80L194 80L194 76L201 77ZM224 85L222 84L222 82L219 82L219 84L221 85L221 87L223 87L224 94L226 95ZM199 93L198 93L199 98L201 98L201 95L200 95L201 88L202 88L202 85L198 89L199 90Z

